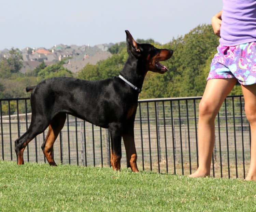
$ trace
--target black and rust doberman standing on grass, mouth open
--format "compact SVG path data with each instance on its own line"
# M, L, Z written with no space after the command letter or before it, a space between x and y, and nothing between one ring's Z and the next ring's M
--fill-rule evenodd
M42 150L49 164L56 165L53 144L65 123L66 114L71 114L109 128L111 165L118 171L123 137L127 167L138 172L133 131L138 96L147 71L165 73L168 69L159 61L169 59L173 51L137 43L128 30L125 32L128 59L119 76L100 81L54 77L26 88L27 92L32 91L32 117L26 133L15 141L18 164L24 164L23 152L27 144L49 126Z

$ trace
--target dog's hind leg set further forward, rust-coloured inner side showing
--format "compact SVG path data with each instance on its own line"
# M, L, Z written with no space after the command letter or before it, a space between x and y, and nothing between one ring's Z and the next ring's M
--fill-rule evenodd
M50 165L57 166L53 159L53 144L66 121L66 113L58 113L51 121L47 136L42 144L43 153Z

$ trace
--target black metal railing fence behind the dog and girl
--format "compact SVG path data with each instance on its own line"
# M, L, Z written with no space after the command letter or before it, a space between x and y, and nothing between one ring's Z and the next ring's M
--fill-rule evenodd
M196 170L200 99L139 100L134 123L139 170L182 175ZM14 141L27 130L30 111L29 98L0 100L0 159L16 161ZM26 147L25 162L45 162L41 150L45 135L38 135ZM243 96L228 96L215 119L211 176L245 177L250 162L250 135ZM124 145L122 155L124 169ZM110 166L109 131L68 115L54 144L54 159L63 164Z

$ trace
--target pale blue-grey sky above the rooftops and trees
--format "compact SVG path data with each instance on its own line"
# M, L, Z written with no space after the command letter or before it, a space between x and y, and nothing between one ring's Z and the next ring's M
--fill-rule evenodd
M0 0L0 50L116 43L125 30L167 43L221 9L222 0Z

